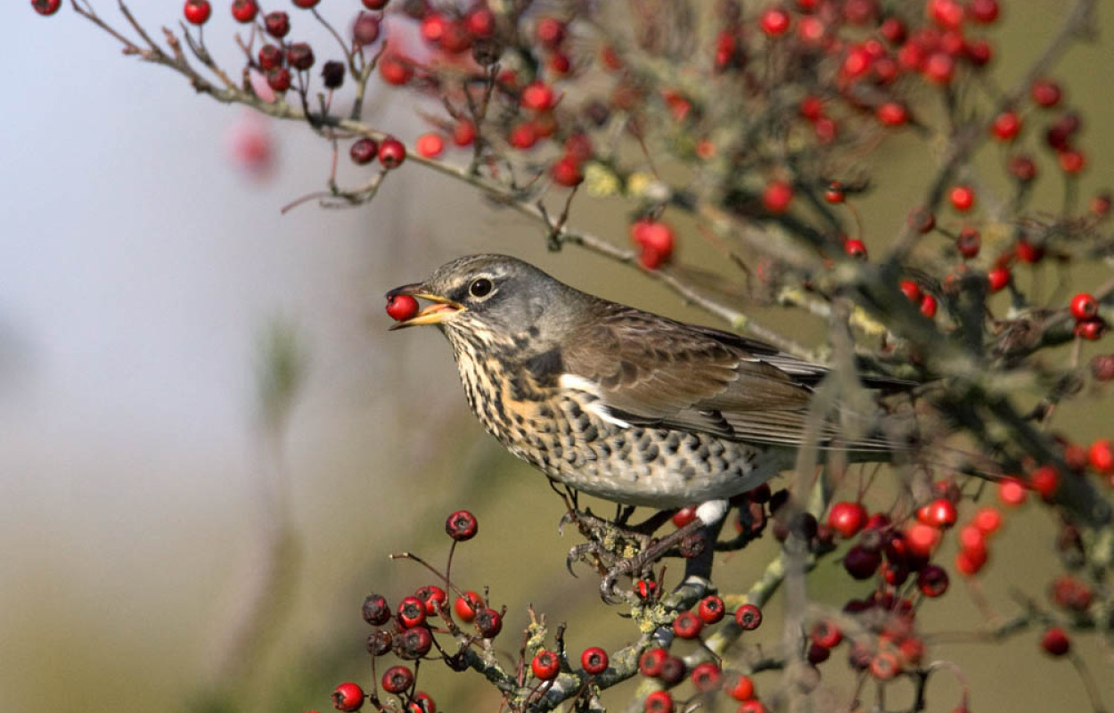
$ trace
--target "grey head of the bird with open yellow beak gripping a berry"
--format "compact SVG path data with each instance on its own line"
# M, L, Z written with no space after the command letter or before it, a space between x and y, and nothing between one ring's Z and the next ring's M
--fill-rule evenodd
M387 296L400 294L432 304L391 329L437 324L450 340L502 342L528 331L544 341L559 340L565 312L587 297L529 263L497 254L457 258L424 282L395 287Z

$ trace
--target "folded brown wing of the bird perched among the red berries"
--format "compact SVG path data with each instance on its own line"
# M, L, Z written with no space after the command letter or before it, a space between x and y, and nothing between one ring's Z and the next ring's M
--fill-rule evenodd
M619 420L733 440L800 445L827 369L736 334L615 305L565 342L564 371ZM838 437L823 423L821 445Z

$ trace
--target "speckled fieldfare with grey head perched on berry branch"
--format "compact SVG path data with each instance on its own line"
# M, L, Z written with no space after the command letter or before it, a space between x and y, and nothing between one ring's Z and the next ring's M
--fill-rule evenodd
M700 512L710 522L807 440L852 460L890 455L885 437L842 440L830 419L810 433L825 367L580 292L515 257L461 257L397 295L431 304L391 329L436 324L485 428L577 491L663 509L721 504Z

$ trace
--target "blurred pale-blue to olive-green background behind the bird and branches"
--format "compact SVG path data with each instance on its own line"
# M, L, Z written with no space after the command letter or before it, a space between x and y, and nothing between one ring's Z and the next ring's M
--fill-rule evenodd
M999 85L1017 79L1064 4L1005 3L1005 22L991 32ZM99 6L116 17L111 3ZM135 3L148 27L178 12L157 6ZM216 14L214 46L232 29ZM1097 25L1112 16L1114 0L1104 0ZM8 55L17 58L0 138L0 710L126 713L219 702L212 686L227 684L229 672L228 700L248 710L328 709L335 683L368 676L363 596L397 600L428 580L387 554L439 561L443 518L461 507L479 516L480 537L460 549L453 572L471 588L490 585L492 600L510 606L507 652L517 649L527 603L570 623L574 652L627 643L632 632L600 604L593 577L564 569L578 540L557 535L559 500L467 413L439 335L388 334L381 295L460 254L501 251L610 299L711 323L707 315L635 271L573 248L547 253L536 225L417 166L392 176L371 206L281 215L328 175L326 145L303 127L245 124L241 109L121 58L69 11L45 20L26 2L7 3L0 18L14 28ZM1112 60L1114 45L1100 35L1054 75L1083 111L1083 196L1114 186L1105 135L1114 125ZM375 120L410 138L421 124L399 97L379 92ZM237 167L244 131L270 133L270 177ZM934 160L915 141L885 150L877 183L888 199L862 205L872 248L909 207L892 196L921 195ZM997 160L993 149L985 154ZM1047 156L1040 165L1046 207L1055 209L1055 172ZM345 168L343 177L359 175ZM575 227L626 240L619 204L580 207ZM682 256L715 260L695 235L683 238ZM1065 290L1094 286L1103 274L1098 265L1079 270ZM1053 275L1046 284L1055 285ZM755 313L802 341L823 332L780 311ZM282 439L261 419L257 389L275 324L296 334L305 365ZM1110 338L1084 355L1108 346ZM1112 436L1111 416L1108 399L1088 398L1056 423L1088 442ZM266 485L275 480L285 484L293 527L286 577L271 592L283 616L266 624L265 655L229 661L275 541ZM1000 540L1008 545L993 553L985 588L1005 613L1015 611L1013 587L1042 598L1057 572L1048 515L1012 519ZM770 553L763 543L731 557L723 584L747 586ZM856 590L834 560L812 587L833 604ZM979 621L958 583L921 617L929 632L971 631ZM1069 665L1044 660L1036 641L1029 633L930 655L962 667L976 711L1086 710ZM1108 652L1091 637L1077 645L1114 704ZM497 710L476 676L439 668L423 670L422 687L441 710ZM824 672L846 688L836 675L842 668L833 662ZM957 701L944 678L932 710Z

